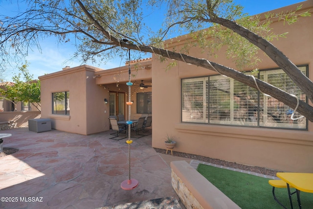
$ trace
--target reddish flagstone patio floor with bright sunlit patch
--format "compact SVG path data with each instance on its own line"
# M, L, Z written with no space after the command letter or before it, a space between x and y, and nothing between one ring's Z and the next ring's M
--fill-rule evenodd
M12 134L3 139L4 148L19 149L0 158L0 197L11 198L10 202L1 199L0 208L6 209L95 209L156 198L179 200L171 186L169 163L190 162L156 153L151 135L133 139L131 178L139 186L123 190L128 144L126 139L109 139L112 131L84 136L15 128L0 133Z

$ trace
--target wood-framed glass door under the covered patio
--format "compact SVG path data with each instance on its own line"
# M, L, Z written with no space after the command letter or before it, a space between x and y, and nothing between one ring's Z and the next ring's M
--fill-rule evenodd
M125 93L110 92L109 96L110 116L125 116Z

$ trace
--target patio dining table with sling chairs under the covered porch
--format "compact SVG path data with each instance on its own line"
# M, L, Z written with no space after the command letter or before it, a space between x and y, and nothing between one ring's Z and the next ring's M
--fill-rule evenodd
M141 138L147 135L150 135L149 130L146 128L151 127L152 124L152 116L141 116L138 119L125 120L125 116L110 116L110 125L112 130L115 131L111 135L113 135L110 139L121 140L127 138L129 134L129 125L131 126L132 138ZM120 133L125 134L122 138L120 138Z

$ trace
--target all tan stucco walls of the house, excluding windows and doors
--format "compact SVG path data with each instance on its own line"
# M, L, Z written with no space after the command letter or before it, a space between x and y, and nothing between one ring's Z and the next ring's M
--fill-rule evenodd
M303 4L305 10L313 11L313 0ZM294 8L296 6L293 5L284 10ZM313 80L313 17L300 18L300 22L293 25L273 23L272 27L277 32L289 32L287 38L275 40L273 44L294 64L309 65L309 76ZM168 48L176 46L179 49L185 39L182 36L173 42L168 41ZM200 54L196 48L191 49L190 54L235 68L222 54L218 58L210 58ZM277 68L263 56L263 52L260 52L260 56L263 62L258 66L259 69ZM183 62L166 71L167 65L160 63L155 56L132 63L132 74L136 74L132 76L132 81L153 80L153 147L165 149L164 138L169 134L176 138L175 151L283 171L313 172L312 122L309 122L308 131L181 122L181 79L217 73ZM128 81L128 66L110 70L80 66L41 76L40 80L42 118L51 118L54 129L87 135L109 130L109 104L104 104L104 98L109 98L110 91L128 93L125 85ZM149 90L152 91L152 88ZM70 116L52 115L51 94L63 91L70 92ZM132 114L135 116L135 93L132 93L131 100L134 101ZM127 118L126 104L125 109Z

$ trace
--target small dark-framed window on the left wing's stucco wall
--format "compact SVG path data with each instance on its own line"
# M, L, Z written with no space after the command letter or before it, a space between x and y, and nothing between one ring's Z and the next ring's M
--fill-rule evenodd
M69 115L69 92L52 93L52 114Z

